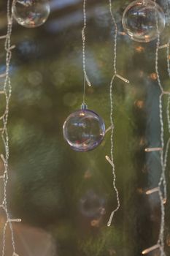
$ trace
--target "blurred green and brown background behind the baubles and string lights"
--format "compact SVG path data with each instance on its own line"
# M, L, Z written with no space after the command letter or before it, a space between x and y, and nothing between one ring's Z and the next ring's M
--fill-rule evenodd
M129 3L113 2L119 31L123 31L121 19ZM165 10L166 4L159 4ZM45 25L26 29L15 23L12 31L12 44L16 45L9 110L8 200L12 217L20 217L24 229L34 227L50 234L53 252L48 256L139 256L143 249L157 243L160 227L158 194L144 193L157 187L161 174L159 154L144 153L145 147L161 143L156 40L142 44L121 34L117 37L117 70L130 84L116 79L113 86L114 159L121 207L112 226L107 227L109 214L116 206L112 167L105 159L110 151L110 133L101 146L87 153L72 151L62 135L66 117L82 103L82 1L51 0L50 5L51 14ZM87 19L86 61L93 86L87 87L86 102L109 127L115 34L109 1L87 1ZM1 1L1 34L6 33L6 22L6 3ZM167 26L161 44L169 36ZM0 47L3 72L3 40ZM159 54L159 71L163 87L168 90L166 49ZM166 96L163 100L166 106ZM166 118L165 127L167 140ZM166 177L169 192L169 162ZM167 255L169 212L168 201ZM21 240L17 238L18 252ZM38 236L34 242L34 246L41 244ZM24 243L32 246L28 240ZM24 255L39 256L33 252ZM150 255L158 256L159 252Z

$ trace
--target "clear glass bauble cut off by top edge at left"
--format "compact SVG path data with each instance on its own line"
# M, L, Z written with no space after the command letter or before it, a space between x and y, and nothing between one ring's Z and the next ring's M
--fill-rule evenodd
M12 15L17 22L26 28L41 26L50 14L48 0L14 0Z

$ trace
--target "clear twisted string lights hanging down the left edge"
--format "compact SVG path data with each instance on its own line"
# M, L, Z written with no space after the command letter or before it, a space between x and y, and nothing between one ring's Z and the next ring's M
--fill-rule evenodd
M12 222L20 222L21 219L11 219L7 204L7 184L9 181L9 135L7 131L7 124L8 124L8 117L9 117L9 100L12 94L12 86L11 80L9 76L9 68L10 68L10 61L12 58L12 49L15 48L15 45L11 45L11 34L12 34L12 15L10 9L10 0L7 0L7 34L1 36L1 39L5 39L4 42L4 50L6 52L6 70L4 74L1 74L1 78L4 78L4 88L0 91L1 94L4 94L6 99L6 106L4 110L4 114L1 116L2 120L2 127L1 127L1 138L4 144L4 154L1 154L1 161L4 164L4 173L0 176L1 181L3 182L3 200L0 207L4 210L6 221L4 222L3 228L3 239L2 239L2 256L5 255L6 249L6 231L7 225L9 225L9 229L11 231L11 240L12 240L12 256L18 256L16 253L15 248L15 238L14 232L12 227Z

